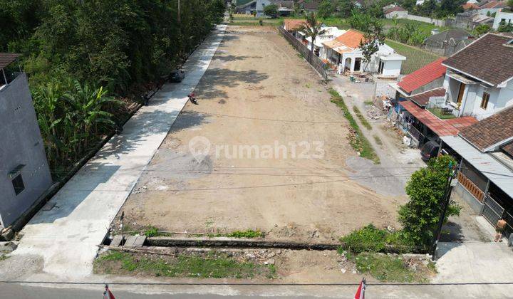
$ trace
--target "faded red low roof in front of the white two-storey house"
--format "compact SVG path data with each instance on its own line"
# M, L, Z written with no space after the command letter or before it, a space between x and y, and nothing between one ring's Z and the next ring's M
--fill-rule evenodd
M472 116L456 117L450 120L440 120L440 118L433 115L431 112L415 105L410 101L400 102L399 105L403 106L420 122L430 128L439 137L457 135L459 130L468 127L477 122Z

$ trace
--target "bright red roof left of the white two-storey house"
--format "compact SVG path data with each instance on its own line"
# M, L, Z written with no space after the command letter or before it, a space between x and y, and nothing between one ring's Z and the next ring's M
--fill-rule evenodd
M445 75L446 70L445 66L442 65L444 60L445 58L438 58L436 61L425 65L423 68L415 70L415 72L405 76L405 78L398 83L399 87L405 90L405 92L411 93L413 90L442 77Z

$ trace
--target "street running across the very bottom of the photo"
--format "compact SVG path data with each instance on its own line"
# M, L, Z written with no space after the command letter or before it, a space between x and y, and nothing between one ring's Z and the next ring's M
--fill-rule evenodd
M103 285L54 288L0 283L4 298L102 298ZM132 298L354 298L355 285L110 285L117 299ZM366 298L512 298L513 285L368 285Z

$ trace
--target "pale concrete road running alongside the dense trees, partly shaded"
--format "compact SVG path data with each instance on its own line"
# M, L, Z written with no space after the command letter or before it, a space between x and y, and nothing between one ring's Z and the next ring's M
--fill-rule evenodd
M226 25L185 63L185 79L167 84L25 226L14 255L43 258L43 272L63 279L88 276L103 241L140 174L187 103L222 41Z

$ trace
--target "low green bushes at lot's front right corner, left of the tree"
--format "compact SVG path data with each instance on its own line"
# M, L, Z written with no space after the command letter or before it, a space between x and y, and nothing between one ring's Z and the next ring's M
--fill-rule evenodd
M377 229L373 224L352 231L340 238L343 246L340 251L351 253L394 251L408 253L413 250L413 243L406 240L401 231L390 233L385 229Z

